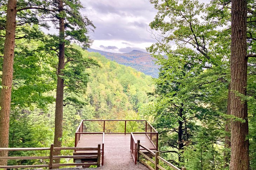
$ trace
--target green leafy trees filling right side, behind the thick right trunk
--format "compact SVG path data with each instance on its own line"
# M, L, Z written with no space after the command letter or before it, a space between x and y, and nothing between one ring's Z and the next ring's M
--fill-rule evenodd
M161 66L156 99L143 107L143 114L154 115L161 132L162 155L188 169L222 169L224 132L230 83L230 1L151 0L157 15L150 23L157 32L157 43L148 51ZM248 53L255 53L255 2L248 1ZM164 53L166 56L162 57ZM255 58L248 60L249 140L255 139ZM181 112L182 111L182 112ZM181 114L182 113L182 114ZM178 127L182 126L182 139ZM186 127L187 126L187 127ZM187 128L187 130L186 130ZM185 131L185 132L184 132ZM186 137L185 137L186 136ZM184 147L180 148L180 143ZM178 147L177 147L178 146ZM255 149L250 146L251 168L255 169ZM178 159L177 155L183 157ZM170 157L171 156L171 157ZM180 161L180 162L177 162Z

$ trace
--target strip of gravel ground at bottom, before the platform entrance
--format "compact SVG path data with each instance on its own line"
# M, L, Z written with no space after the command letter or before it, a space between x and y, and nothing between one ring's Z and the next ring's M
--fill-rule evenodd
M144 166L141 163L137 163L136 165L133 162L130 162L129 164L116 164L116 165L104 165L99 168L61 168L59 170L149 170L146 166Z

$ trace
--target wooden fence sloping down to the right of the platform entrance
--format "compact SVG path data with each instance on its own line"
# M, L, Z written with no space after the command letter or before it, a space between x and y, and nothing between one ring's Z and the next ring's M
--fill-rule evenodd
M146 154L144 154L141 150L140 147L142 147L143 149L147 150L149 152L149 154L151 154L152 156L155 157L155 160L151 159L149 156L147 156ZM151 163L153 163L155 165L155 169L152 168L149 164L147 164L147 162L143 161L140 156L144 156L148 161L150 161ZM170 162L166 161L164 158L162 158L161 156L159 156L159 151L156 151L155 153L142 146L140 144L140 140L137 140L137 161L143 163L144 165L146 165L150 170L166 170L165 168L163 168L160 164L159 164L159 160L162 161L164 164L168 165L169 167L171 167L174 170L186 170L186 168L182 167L181 169L175 167L173 164L171 164Z

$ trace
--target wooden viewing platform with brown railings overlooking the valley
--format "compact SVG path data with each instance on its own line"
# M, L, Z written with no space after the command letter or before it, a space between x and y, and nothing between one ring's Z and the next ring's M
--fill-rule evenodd
M158 132L146 120L82 120L75 133L75 147L101 145L101 165L137 163L138 140L146 148L158 150ZM147 150L141 151L148 154ZM75 156L96 155L97 152L75 150ZM76 163L95 160L74 159Z

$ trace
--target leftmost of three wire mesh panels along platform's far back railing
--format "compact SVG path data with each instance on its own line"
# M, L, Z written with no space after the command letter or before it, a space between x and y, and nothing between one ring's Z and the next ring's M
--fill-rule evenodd
M83 121L83 131L82 132L103 132L104 121Z

